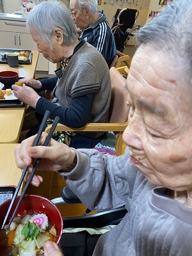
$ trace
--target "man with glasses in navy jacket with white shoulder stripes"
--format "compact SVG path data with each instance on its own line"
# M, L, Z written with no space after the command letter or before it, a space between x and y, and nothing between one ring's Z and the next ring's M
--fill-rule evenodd
M115 39L106 15L97 12L97 0L70 0L70 13L82 31L80 38L92 44L110 67L116 54Z

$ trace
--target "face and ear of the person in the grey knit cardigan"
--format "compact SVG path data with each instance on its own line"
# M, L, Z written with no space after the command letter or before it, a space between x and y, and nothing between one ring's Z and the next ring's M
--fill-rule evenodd
M52 44L53 44L53 49L49 47L49 44L42 39L39 33L35 29L30 29L31 36L33 40L35 41L37 45L37 49L39 52L42 52L43 56L45 59L51 61L52 63L59 63L61 61L61 50L60 50L60 42L56 33L52 36ZM58 33L58 36L59 33Z

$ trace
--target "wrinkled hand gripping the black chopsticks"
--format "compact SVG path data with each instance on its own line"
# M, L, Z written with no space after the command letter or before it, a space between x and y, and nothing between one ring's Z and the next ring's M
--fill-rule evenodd
M25 165L29 166L25 180L28 180L29 174L33 169L33 159L41 158L38 170L47 170L56 172L63 170L70 172L76 166L76 152L67 145L51 139L49 146L43 145L47 133L43 132L40 143L36 147L31 147L35 141L36 135L32 136L15 148L15 161L17 167L23 169ZM33 186L38 187L43 181L42 177L34 175L31 181Z

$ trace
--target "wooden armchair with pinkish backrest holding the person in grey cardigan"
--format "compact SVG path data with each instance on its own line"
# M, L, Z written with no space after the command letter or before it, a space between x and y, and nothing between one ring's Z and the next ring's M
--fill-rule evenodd
M125 68L129 70L128 67ZM127 117L129 113L129 108L127 107L128 91L125 89L125 77L123 77L115 67L110 68L109 72L112 84L112 98L109 108L109 123L88 123L81 128L72 128L68 127L67 125L58 124L55 131L113 131L117 137L115 147L116 155L119 156L124 152L124 150L122 150L122 146L124 144L122 140L122 134L125 130L125 127L127 127ZM45 129L45 132L48 133L50 129L51 125Z

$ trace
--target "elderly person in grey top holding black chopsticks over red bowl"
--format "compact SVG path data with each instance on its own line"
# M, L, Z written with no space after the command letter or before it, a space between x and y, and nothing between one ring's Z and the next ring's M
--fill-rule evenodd
M34 148L35 137L15 150L19 168L28 164L31 170L33 159L42 158L39 169L49 166L65 177L88 209L125 205L127 214L99 237L90 255L192 255L191 12L192 1L175 0L138 31L127 77L124 155L101 156L54 140ZM41 182L34 177L35 186ZM69 255L77 255L73 252Z

